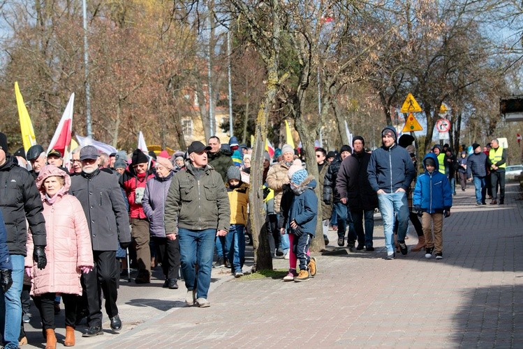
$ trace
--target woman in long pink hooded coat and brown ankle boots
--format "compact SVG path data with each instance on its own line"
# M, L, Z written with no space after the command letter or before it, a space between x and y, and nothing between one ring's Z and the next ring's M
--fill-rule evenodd
M54 297L61 295L66 313L64 346L75 345L77 302L82 295L80 273L93 267L91 235L80 201L67 194L71 178L57 166L45 166L36 178L36 187L43 201L47 230L45 255L47 265L39 270L33 261L33 241L27 235L26 272L31 277L31 295L46 337L45 348L56 348L54 334Z

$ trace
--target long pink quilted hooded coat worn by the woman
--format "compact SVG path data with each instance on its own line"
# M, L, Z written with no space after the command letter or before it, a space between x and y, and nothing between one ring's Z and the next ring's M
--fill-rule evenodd
M45 197L43 182L50 176L62 176L65 185L54 203ZM43 293L66 293L82 295L80 267L93 266L91 235L87 227L80 201L66 194L71 186L71 177L56 166L45 166L36 178L36 187L43 201L43 217L47 231L45 256L47 265L39 270L33 261L33 240L27 235L27 257L25 266L31 270L31 295Z

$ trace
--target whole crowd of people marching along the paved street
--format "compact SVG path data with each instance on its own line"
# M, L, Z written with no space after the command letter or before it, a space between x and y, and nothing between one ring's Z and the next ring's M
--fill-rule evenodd
M265 222L272 257L289 261L284 281L316 275L309 245L318 219L325 245L332 229L339 247L370 252L379 210L388 260L408 254L410 220L418 235L411 250L424 249L426 258L441 259L443 217L450 216L456 178L462 191L473 180L477 205L486 204L487 194L492 204L504 204L506 150L496 139L484 151L473 144L473 153L463 151L459 158L448 145L436 145L423 158L419 175L411 135L398 138L388 126L381 139L382 146L373 151L361 136L339 152L316 148L318 178L307 171L304 154L288 144L274 157L265 152ZM218 137L210 137L207 145L193 141L186 151L171 155L140 149L131 155L104 154L84 146L72 151L70 164L64 164L59 150L45 153L41 145L12 155L8 149L0 133L4 348L27 343L30 297L40 312L45 348L57 345L54 314L60 302L65 346L75 345L75 327L84 317L88 328L82 336L103 334L102 299L110 327L118 332L118 282L131 266L138 270L137 284L149 284L156 265L161 265L164 288L179 288L182 277L186 304L202 308L210 306L213 267L244 275L251 149L236 137L228 144Z

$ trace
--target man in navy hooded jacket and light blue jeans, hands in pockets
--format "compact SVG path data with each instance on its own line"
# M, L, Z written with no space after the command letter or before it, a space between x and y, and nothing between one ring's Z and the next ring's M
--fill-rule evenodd
M403 255L408 253L405 235L408 229L408 202L406 191L415 176L411 155L396 144L397 133L392 126L381 131L383 146L374 150L367 166L369 183L378 194L378 207L383 218L383 233L387 259L395 258L394 219L398 219L398 243Z

